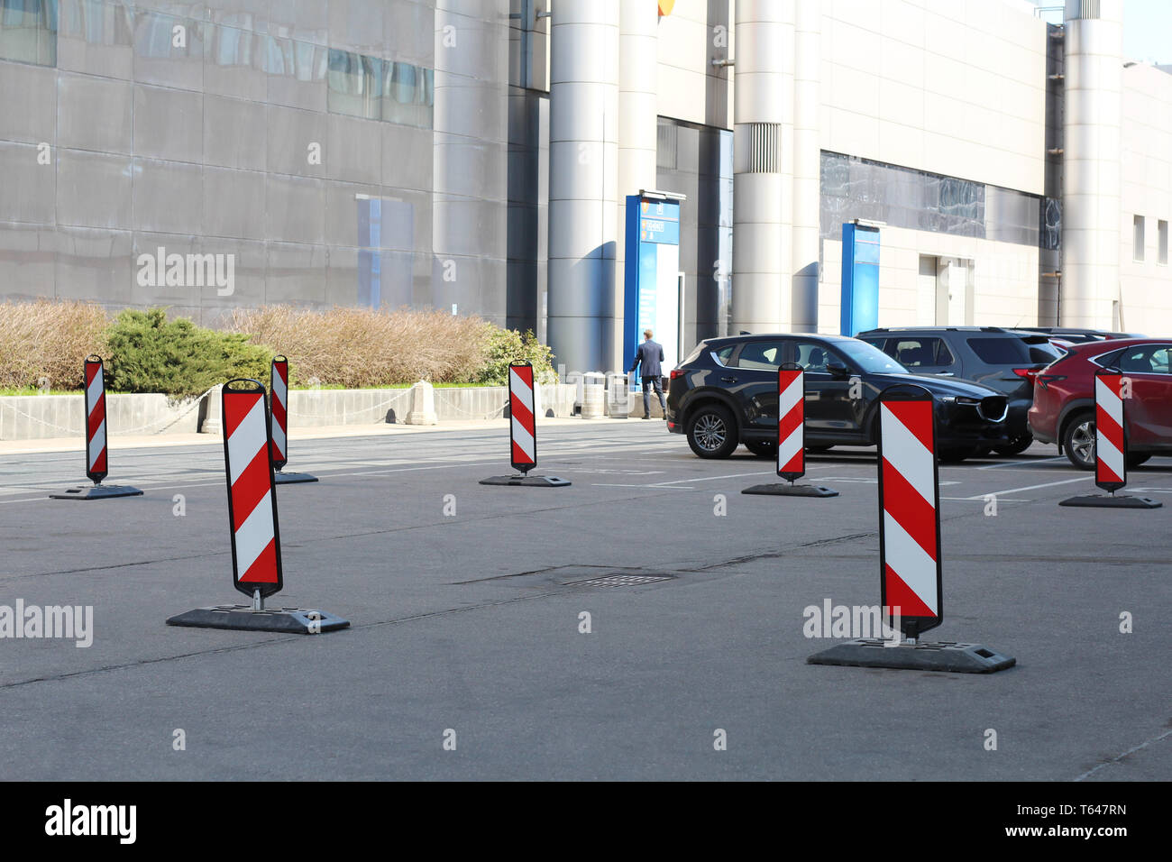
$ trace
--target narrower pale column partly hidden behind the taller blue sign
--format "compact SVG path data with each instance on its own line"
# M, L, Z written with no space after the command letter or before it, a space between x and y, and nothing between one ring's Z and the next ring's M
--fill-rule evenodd
M625 368L622 300L626 287L626 196L656 189L659 6L655 0L624 0L619 12L619 196L618 252L614 266L614 348L605 368Z

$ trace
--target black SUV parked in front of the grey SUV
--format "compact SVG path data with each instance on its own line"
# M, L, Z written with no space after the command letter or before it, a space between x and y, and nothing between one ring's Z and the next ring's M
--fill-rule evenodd
M874 446L879 393L918 384L935 396L936 450L962 461L1006 442L1006 396L984 386L919 376L865 341L843 335L775 334L701 341L672 372L667 427L687 434L700 457L728 457L737 443L772 456L777 452L777 368L805 368L805 442Z

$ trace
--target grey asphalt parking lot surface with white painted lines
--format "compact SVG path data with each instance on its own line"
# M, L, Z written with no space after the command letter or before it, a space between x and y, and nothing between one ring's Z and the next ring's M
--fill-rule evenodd
M831 643L804 608L879 602L873 450L811 456L841 495L786 500L740 494L770 461L701 461L659 421L541 428L564 489L479 486L506 442L294 441L321 482L279 489L278 598L352 620L319 637L164 625L244 600L219 447L115 449L108 481L145 495L93 503L46 498L79 454L0 456L0 604L94 608L89 649L0 640L4 778L1172 776L1172 460L1131 474L1152 511L1059 508L1093 487L1052 447L941 467L929 639L1017 658L986 677L805 664ZM578 583L616 575L663 579Z

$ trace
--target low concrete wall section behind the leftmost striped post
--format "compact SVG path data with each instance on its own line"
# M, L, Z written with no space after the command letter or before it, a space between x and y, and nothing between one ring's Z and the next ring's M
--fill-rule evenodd
M110 434L193 434L204 415L200 399L172 401L166 395L105 396ZM7 395L0 398L0 440L68 437L86 430L82 395Z

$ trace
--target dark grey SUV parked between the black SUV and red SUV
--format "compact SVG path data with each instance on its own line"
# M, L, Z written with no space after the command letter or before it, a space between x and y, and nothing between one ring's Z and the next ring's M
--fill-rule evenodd
M999 326L893 326L859 338L917 374L972 380L1006 395L1009 440L993 447L1001 455L1018 455L1034 442L1027 422L1034 378L1062 355L1051 335Z

